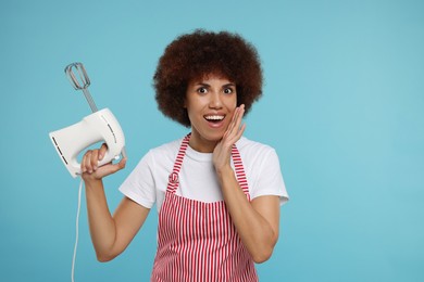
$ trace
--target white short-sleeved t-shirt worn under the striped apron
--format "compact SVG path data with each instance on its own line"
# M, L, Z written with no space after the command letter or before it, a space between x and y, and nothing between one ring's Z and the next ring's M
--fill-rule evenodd
M182 141L175 140L150 150L122 183L120 191L147 208L157 204L159 213ZM287 202L288 194L275 150L245 137L236 145L245 167L250 198L277 195L282 205ZM187 146L178 179L176 194L179 196L205 203L223 200L212 153L199 153Z

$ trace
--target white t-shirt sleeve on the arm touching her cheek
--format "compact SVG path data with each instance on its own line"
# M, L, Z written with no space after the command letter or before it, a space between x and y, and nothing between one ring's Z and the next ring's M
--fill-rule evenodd
M264 195L279 196L280 205L288 201L286 185L284 183L279 159L274 149L267 150L263 162L258 167L258 179L252 191L251 198Z

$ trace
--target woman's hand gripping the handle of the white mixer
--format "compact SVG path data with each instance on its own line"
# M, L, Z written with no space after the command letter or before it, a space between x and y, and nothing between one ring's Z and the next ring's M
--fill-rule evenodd
M88 150L84 156L83 161L80 163L80 169L83 172L83 179L84 181L96 181L101 180L103 177L112 175L125 167L126 158L122 158L120 163L113 164L112 162L98 166L99 161L101 161L105 152L108 151L107 144L102 144L100 149L98 150Z

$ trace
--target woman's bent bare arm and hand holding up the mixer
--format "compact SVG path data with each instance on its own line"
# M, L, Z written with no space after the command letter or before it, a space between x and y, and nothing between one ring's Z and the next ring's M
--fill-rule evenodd
M103 145L100 150L88 151L82 162L88 223L99 261L109 261L120 255L141 228L150 210L124 197L114 215L111 215L102 178L123 169L126 159L122 159L119 164L97 167L105 150Z

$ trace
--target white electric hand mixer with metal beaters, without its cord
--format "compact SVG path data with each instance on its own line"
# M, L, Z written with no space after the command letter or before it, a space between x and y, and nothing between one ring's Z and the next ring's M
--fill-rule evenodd
M76 70L77 76L73 69ZM126 157L125 137L120 123L109 108L98 111L95 101L88 91L90 79L82 63L72 63L65 67L65 74L75 90L83 90L85 98L92 111L79 123L49 133L50 139L72 177L82 174L78 154L88 146L103 141L108 145L108 152L99 162L99 166L117 159L120 154ZM78 81L78 78L82 82Z

